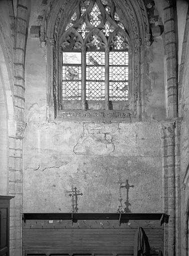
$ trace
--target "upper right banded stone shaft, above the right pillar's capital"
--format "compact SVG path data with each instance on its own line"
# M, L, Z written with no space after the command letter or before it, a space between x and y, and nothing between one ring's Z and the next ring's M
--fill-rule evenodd
M167 66L168 117L177 116L177 59L172 1L164 1L164 40Z

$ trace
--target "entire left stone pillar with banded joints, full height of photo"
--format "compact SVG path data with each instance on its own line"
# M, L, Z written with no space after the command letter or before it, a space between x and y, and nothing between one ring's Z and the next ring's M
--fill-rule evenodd
M9 132L9 195L15 196L10 201L10 256L21 255L21 209L22 209L22 137L25 128L25 82L24 58L27 36L28 5L27 0L17 1L14 42L14 121Z

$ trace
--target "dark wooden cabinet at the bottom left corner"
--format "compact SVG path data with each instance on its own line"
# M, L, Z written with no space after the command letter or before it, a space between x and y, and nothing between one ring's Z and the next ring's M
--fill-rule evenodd
M12 197L0 195L0 256L9 256L9 205Z

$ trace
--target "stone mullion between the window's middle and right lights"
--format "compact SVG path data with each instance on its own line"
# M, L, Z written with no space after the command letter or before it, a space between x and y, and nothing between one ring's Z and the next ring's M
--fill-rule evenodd
M105 48L105 110L109 109L109 48Z

